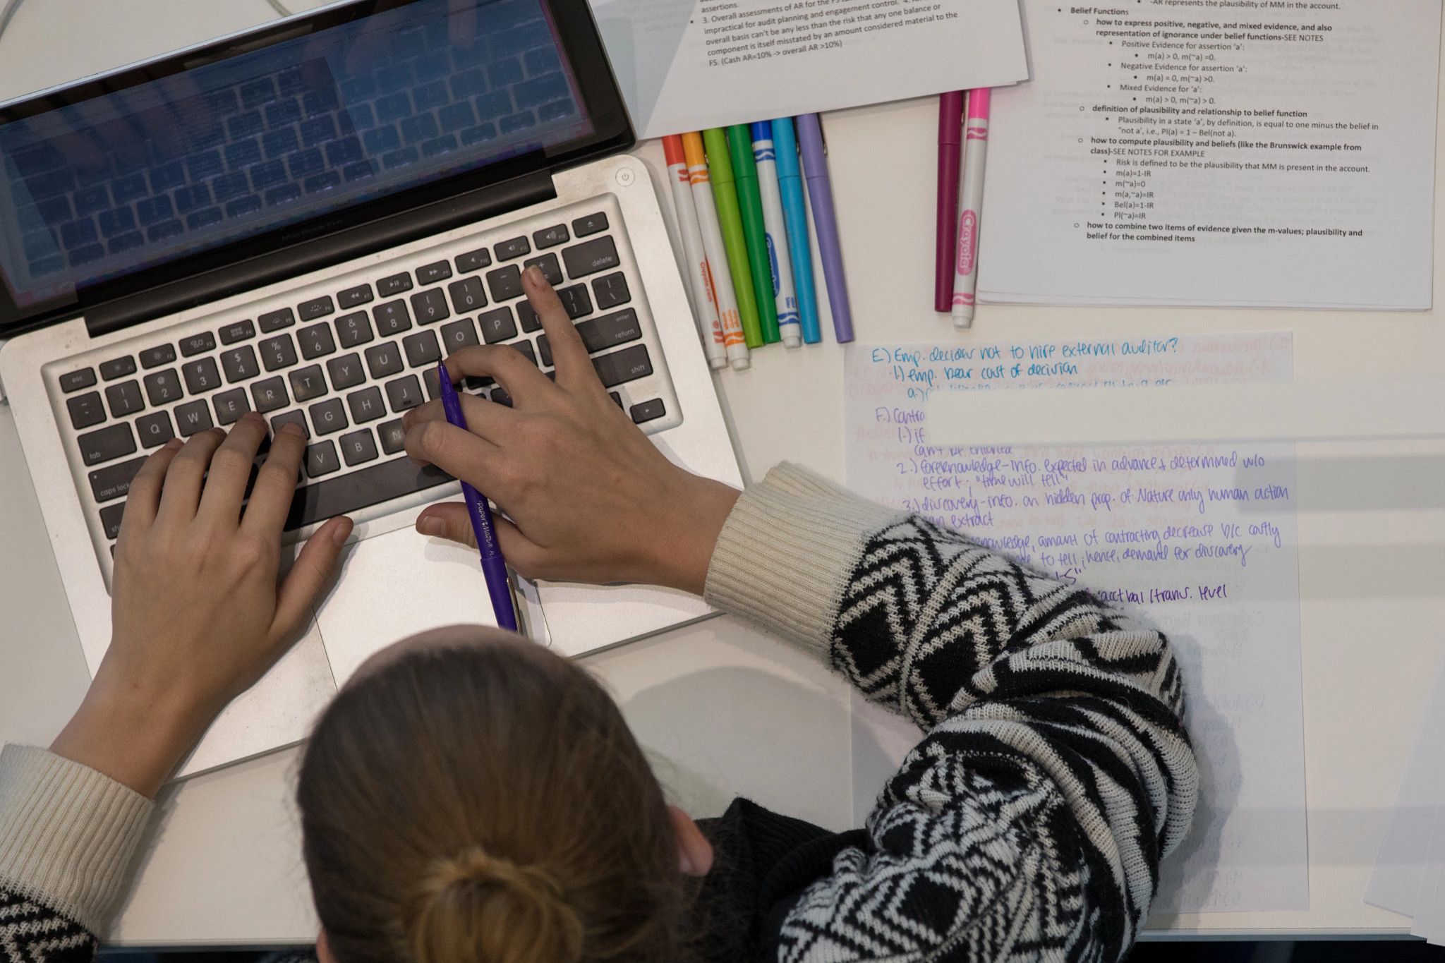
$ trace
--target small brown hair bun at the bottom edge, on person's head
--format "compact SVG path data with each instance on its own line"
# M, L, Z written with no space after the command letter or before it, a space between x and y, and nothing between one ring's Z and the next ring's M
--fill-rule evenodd
M418 963L582 959L582 921L556 881L478 846L432 862L409 923Z

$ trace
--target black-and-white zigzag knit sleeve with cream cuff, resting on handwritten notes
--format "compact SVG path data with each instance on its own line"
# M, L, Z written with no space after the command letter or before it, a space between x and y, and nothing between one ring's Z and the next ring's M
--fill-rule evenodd
M777 959L1124 956L1198 785L1160 632L786 465L738 500L707 598L925 731Z

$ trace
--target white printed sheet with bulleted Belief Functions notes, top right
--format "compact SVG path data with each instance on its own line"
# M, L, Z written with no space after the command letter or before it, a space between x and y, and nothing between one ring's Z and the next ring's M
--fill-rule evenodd
M1441 0L1309 6L1023 0L981 296L1429 308Z

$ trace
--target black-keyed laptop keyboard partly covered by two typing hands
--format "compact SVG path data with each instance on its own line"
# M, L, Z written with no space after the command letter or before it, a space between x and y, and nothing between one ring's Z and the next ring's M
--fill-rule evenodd
M308 435L289 533L452 481L406 458L402 414L438 397L436 362L468 345L510 345L552 371L548 338L522 295L529 264L556 287L613 401L643 430L678 424L618 219L598 201L549 211L366 273L335 269L337 282L295 296L51 365L103 567L108 573L126 494L147 455L251 410L273 430L290 422ZM461 388L512 404L491 378Z

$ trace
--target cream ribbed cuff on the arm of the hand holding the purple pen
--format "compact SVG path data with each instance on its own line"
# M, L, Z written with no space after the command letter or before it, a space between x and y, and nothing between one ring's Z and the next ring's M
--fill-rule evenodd
M822 657L863 540L906 517L783 463L737 500L704 598Z

